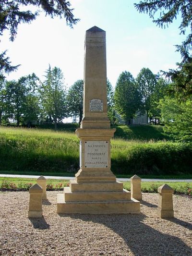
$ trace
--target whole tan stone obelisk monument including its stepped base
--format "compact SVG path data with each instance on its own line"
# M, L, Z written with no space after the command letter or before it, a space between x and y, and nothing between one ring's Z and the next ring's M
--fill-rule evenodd
M110 170L110 129L107 113L106 32L88 29L84 44L84 110L80 138L80 170L57 199L58 213L139 213Z

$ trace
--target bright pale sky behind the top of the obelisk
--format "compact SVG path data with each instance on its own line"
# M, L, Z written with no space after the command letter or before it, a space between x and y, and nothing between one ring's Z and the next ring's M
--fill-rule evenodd
M35 73L42 81L48 65L59 67L67 87L84 77L85 31L98 26L106 31L107 76L115 87L123 71L136 78L142 68L153 73L168 71L180 61L176 44L179 20L166 29L152 22L147 14L136 11L133 3L139 0L71 0L75 18L80 22L71 29L64 19L45 17L42 13L31 24L20 24L13 42L9 33L0 38L0 51L8 50L12 65L21 64L7 80Z

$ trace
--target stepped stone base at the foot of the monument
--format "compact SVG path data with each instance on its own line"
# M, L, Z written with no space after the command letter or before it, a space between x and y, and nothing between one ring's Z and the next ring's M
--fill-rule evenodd
M131 198L123 183L77 183L70 181L57 196L57 213L140 213L140 202Z

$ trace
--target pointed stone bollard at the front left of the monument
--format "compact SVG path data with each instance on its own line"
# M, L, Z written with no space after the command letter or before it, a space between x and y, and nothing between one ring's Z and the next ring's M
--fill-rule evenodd
M41 218L42 217L42 195L43 189L37 183L29 189L29 211L28 218Z

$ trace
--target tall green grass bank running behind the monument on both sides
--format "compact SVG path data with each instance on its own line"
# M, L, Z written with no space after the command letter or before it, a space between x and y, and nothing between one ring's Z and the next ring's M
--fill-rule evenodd
M183 172L190 173L192 170L192 146L152 141L152 138L165 139L162 127L120 126L116 136L120 133L127 134L132 140L111 141L111 169L115 173L126 176L151 174L151 177L164 174L176 177L177 174L181 177ZM24 174L27 171L30 174L67 176L66 171L68 175L73 175L78 168L79 140L74 133L0 128L1 173L16 171Z

